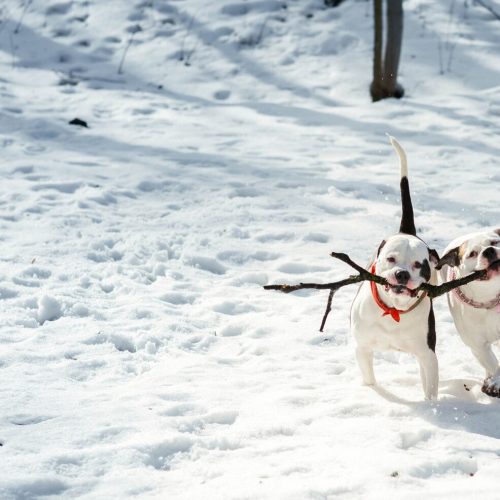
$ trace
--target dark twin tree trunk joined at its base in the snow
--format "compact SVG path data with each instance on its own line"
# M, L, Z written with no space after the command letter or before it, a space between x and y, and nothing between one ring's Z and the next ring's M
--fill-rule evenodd
M387 0L384 57L382 56L384 52L383 11L383 0L373 0L373 81L370 85L370 94L374 102L388 97L399 99L404 95L404 89L397 81L403 41L403 0Z

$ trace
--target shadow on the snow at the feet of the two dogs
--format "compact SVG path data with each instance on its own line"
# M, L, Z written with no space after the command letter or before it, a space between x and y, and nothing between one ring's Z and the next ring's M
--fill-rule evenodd
M409 401L379 386L372 389L387 401L407 406L419 417L443 429L455 429L500 439L500 399L481 392L482 382L442 380L437 401Z

